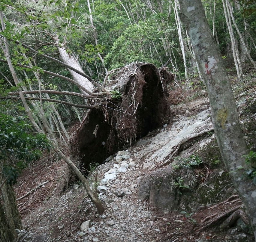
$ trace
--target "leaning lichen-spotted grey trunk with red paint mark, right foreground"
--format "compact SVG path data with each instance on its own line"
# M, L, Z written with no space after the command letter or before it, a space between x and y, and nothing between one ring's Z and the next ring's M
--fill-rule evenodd
M180 17L191 39L199 68L206 84L212 122L225 166L242 198L256 238L256 186L246 175L251 169L239 125L236 103L218 47L209 28L200 0L179 0Z

